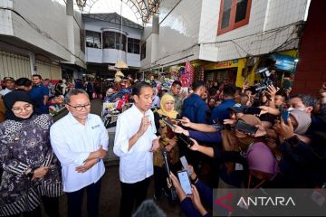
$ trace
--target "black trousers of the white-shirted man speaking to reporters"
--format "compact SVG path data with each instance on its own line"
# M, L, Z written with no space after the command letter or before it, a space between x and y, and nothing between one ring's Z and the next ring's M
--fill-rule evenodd
M134 184L121 184L120 217L129 217L145 201L149 189L149 178Z

